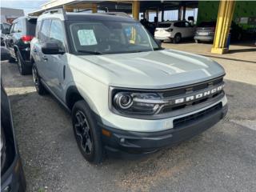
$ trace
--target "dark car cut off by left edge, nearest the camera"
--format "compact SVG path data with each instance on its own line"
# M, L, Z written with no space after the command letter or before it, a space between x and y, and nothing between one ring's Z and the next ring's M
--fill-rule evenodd
M1 47L1 60L10 58L8 50ZM26 191L22 161L15 140L10 102L1 81L1 191Z

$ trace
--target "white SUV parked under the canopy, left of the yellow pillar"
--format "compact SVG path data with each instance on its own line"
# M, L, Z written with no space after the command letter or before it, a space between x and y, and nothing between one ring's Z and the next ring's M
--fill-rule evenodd
M178 43L182 38L193 38L195 27L186 21L161 22L154 31L154 38Z

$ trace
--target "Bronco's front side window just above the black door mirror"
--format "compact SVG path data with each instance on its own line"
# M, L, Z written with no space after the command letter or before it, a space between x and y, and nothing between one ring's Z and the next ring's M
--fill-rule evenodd
M52 20L50 25L50 39L58 42L60 46L64 46L64 29L61 21Z

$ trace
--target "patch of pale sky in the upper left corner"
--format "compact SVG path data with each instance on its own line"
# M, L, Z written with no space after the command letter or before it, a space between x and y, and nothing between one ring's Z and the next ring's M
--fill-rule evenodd
M34 10L41 9L41 5L49 2L49 0L1 0L1 7L9 7L24 10L24 14L28 14Z

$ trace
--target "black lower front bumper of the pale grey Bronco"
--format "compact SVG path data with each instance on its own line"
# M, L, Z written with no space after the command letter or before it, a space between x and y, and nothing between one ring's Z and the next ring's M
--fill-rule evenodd
M147 154L160 150L164 147L173 146L179 142L192 138L194 135L209 129L226 116L227 105L218 110L185 123L177 128L158 132L136 132L118 130L99 123L102 130L110 132L110 136L102 134L102 141L106 150L111 154Z

